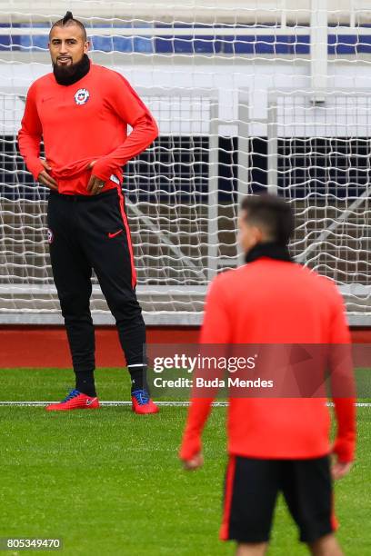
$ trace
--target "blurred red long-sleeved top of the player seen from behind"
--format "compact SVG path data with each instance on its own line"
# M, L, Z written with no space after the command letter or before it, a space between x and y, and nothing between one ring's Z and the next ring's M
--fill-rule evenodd
M296 264L262 257L219 274L206 297L201 343L349 343L344 303L330 280ZM180 451L201 449L212 398L194 398ZM355 399L335 398L334 452L344 462L355 452ZM230 398L228 452L267 459L321 457L331 451L324 398Z

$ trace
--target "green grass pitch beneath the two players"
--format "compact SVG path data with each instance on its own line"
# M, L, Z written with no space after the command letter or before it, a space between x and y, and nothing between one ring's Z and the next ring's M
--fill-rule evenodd
M102 400L128 399L125 370L99 370L96 382ZM72 372L4 369L0 384L0 402L56 401ZM205 467L186 473L176 457L185 407L135 416L126 406L51 414L0 406L0 537L60 537L55 553L74 556L233 554L218 541L225 412L215 408L206 428ZM371 550L370 453L371 407L361 407L357 462L336 484L338 538L349 556ZM306 554L296 539L280 500L269 554Z

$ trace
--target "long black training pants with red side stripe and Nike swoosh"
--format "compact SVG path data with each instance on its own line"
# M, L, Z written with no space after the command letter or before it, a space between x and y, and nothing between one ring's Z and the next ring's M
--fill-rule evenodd
M144 363L145 323L135 294L135 267L121 189L94 196L51 192L48 240L55 286L75 372L95 369L89 309L92 269L105 295L127 365Z

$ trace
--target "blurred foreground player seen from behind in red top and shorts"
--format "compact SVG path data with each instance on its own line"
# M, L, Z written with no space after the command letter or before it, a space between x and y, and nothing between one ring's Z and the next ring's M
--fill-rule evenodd
M290 258L290 206L270 195L246 197L239 226L247 264L211 284L201 343L349 343L336 286ZM203 464L201 432L212 402L201 397L191 402L180 451L187 470ZM323 398L230 398L220 536L237 542L239 556L266 553L279 491L309 550L342 554L334 534L332 478L351 468L356 415L354 397L334 402L337 436L331 447Z

